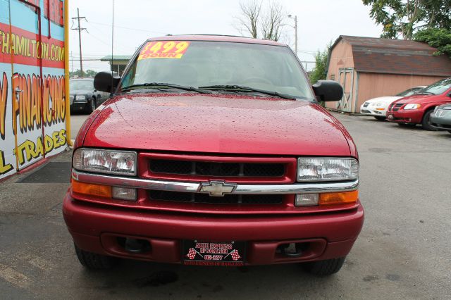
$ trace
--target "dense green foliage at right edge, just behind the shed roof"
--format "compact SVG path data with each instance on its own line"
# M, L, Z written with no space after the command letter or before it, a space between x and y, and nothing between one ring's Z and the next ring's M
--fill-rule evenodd
M431 28L416 32L414 40L426 42L437 48L434 55L445 54L451 58L451 30Z

